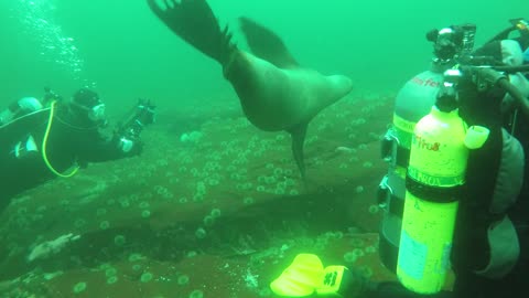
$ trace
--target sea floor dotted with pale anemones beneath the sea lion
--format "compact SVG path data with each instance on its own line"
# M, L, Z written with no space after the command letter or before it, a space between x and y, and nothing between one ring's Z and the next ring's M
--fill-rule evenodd
M233 109L187 131L161 117L140 157L90 164L0 215L0 296L276 297L270 283L300 253L395 280L378 257L376 202L392 99L370 97L313 120L306 183L285 132Z

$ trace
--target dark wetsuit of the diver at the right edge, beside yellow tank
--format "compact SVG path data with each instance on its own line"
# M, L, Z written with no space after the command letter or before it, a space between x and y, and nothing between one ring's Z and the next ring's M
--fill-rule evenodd
M489 259L487 230L501 214L493 214L490 205L498 178L503 150L501 128L505 127L501 115L501 99L505 92L492 88L479 93L469 86L460 86L460 97L464 98L460 115L469 125L485 126L490 135L478 150L471 150L466 174L466 198L460 202L458 216L454 234L452 266L456 275L454 297L527 297L528 234L529 220L528 164L525 167L525 179L517 203L506 213L512 221L520 242L520 257L516 267L503 278L492 279L477 275L475 270L484 268ZM461 84L460 84L461 85ZM526 128L528 128L526 123ZM521 137L515 136L515 137ZM527 152L529 135L518 140ZM523 210L522 205L526 205ZM517 214L515 214L517 213Z

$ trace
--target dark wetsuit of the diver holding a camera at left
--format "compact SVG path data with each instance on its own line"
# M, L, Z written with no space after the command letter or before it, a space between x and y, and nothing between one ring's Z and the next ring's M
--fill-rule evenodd
M45 115L40 115L44 113ZM28 127L21 125L17 136L8 138L8 143L0 143L0 212L9 205L10 200L32 189L55 174L46 167L42 157L42 141L47 126L50 109L25 117L40 117ZM138 155L140 143L134 143L130 151L125 152L120 147L121 136L114 134L105 136L101 128L94 123L79 120L73 115L68 106L58 106L53 118L47 138L46 156L50 163L58 172L69 172L75 163L86 166L87 162L101 162ZM18 128L18 127L17 127ZM2 129L2 128L0 128ZM17 158L13 153L15 143L25 141L29 136L34 138L37 151L25 153Z

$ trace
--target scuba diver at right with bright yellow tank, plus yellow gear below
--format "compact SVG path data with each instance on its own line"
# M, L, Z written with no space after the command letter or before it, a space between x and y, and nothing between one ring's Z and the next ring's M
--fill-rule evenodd
M511 32L519 32L519 36L510 39ZM408 153L400 157L407 162L402 183L406 203L395 209L400 210L400 247L390 254L382 252L380 244L380 254L386 254L381 260L399 281L373 283L353 267L324 267L317 256L302 254L270 284L274 294L301 297L315 292L347 298L528 297L528 22L512 20L512 26L476 51L468 51L465 43L472 40L473 46L474 33L472 25L431 31L428 39L435 43L435 54L441 60L436 65L436 70L442 68L441 81L438 84L435 79L415 77L411 82L420 96L435 96L428 103L431 111L422 110L413 124L411 149L392 153L392 159L399 159L396 153ZM481 136L476 143L467 142L474 139L466 134L473 129ZM433 138L446 131L450 134L444 139ZM447 151L447 157L438 153ZM441 163L431 157L442 159ZM453 181L445 173L454 168L457 183L450 184ZM387 187L395 191L393 185ZM391 220L392 224L396 222ZM381 242L384 237L380 233ZM455 281L446 290L450 268Z

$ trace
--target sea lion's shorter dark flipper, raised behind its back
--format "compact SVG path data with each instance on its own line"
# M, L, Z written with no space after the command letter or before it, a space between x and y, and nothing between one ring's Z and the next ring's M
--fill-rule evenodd
M280 68L298 66L298 62L276 33L245 17L239 18L239 22L248 46L256 56Z

